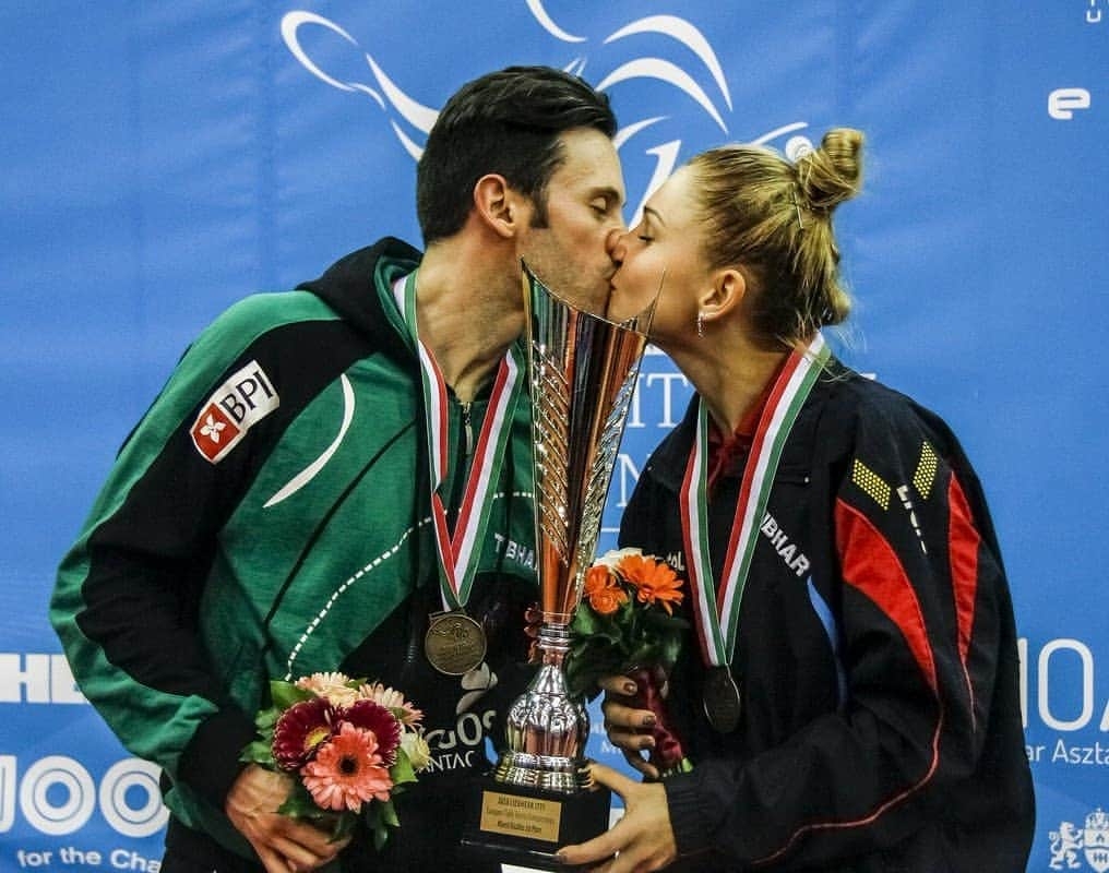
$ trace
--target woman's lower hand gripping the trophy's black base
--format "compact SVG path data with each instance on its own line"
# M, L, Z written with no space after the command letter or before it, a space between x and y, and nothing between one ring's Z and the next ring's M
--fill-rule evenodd
M670 826L667 792L660 784L632 782L603 764L591 764L593 780L623 798L624 816L608 833L579 845L559 850L566 864L589 864L612 859L598 870L606 873L639 873L662 870L678 856ZM618 854L619 853L619 854ZM617 855L617 857L612 857Z

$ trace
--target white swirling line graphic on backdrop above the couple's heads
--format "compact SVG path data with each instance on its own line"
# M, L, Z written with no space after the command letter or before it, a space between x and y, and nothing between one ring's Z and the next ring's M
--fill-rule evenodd
M542 0L525 0L525 2L527 3L528 11L531 12L539 26L554 39L572 44L589 42L588 37L571 33L566 28L556 23L543 8ZM353 45L358 51L360 60L366 64L368 72L373 75L373 84L343 81L321 69L308 57L308 53L301 44L299 32L305 26L325 28ZM381 69L373 55L363 50L354 37L340 26L323 16L306 10L288 12L282 18L281 33L293 57L322 82L340 91L358 92L373 99L387 114L389 126L401 148L404 148L413 160L419 160L424 153L424 146L420 143L426 139L427 133L431 130L431 125L435 124L435 120L438 116L437 110L420 103L406 93ZM728 88L723 67L715 50L712 48L712 43L692 22L678 16L648 16L631 21L613 31L600 41L600 45L603 48L604 45L631 38L653 39L658 43L658 38L660 37L663 40L676 42L692 52L701 62L701 68L691 71L665 58L645 55L625 61L615 69L610 70L601 77L596 88L599 91L607 91L637 80L649 80L669 85L690 98L705 115L712 119L724 134L731 135L728 122L725 121L725 113L730 114L732 112L732 95ZM665 43L658 44L652 48L652 51L663 48L665 48ZM569 61L563 69L577 75L582 75L588 60L586 55L579 54ZM703 77L705 73L708 74L708 82L703 78L699 81L699 75ZM709 84L713 93L719 94L719 99L721 100L720 105L710 95L710 90L706 90L705 84ZM622 149L637 135L669 119L669 115L654 115L633 121L618 131L613 142L618 150ZM757 136L752 136L747 141L757 144L767 144L786 134L794 133L795 135L790 138L785 143L784 152L790 160L795 161L813 148L812 142L806 136L796 133L807 126L807 122L796 121L775 128ZM647 187L638 199L638 205L630 221L632 225L639 221L643 204L648 197L670 176L678 165L682 150L682 140L673 139L659 142L659 140L664 139L660 136L653 143L645 143L640 152L643 155L654 159L654 168Z

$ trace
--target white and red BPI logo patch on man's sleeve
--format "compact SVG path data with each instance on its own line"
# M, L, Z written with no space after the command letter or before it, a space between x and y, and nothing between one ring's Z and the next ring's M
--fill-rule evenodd
M218 388L196 416L193 445L218 464L252 426L281 405L281 398L257 361L252 361Z

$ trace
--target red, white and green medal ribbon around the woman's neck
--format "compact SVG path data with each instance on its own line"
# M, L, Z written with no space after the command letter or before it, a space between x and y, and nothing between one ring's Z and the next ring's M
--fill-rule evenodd
M774 487L782 448L831 355L824 337L817 333L806 349L794 349L774 382L743 469L735 520L719 587L713 579L709 550L709 413L704 400L700 400L696 436L682 481L682 536L689 556L690 589L701 654L711 667L726 667L732 661L743 589Z

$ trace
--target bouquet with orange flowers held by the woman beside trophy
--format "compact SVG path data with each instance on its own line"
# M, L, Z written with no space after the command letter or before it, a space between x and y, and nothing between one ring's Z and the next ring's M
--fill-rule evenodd
M685 597L682 580L659 558L639 549L602 555L586 573L570 626L566 672L570 691L592 697L598 680L627 676L633 705L654 713L650 761L664 775L691 769L669 724L663 687L678 660L689 622L673 613Z

